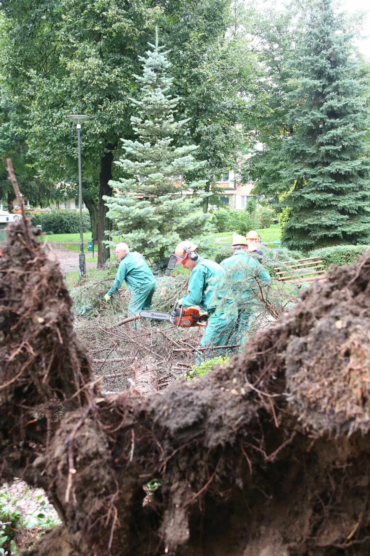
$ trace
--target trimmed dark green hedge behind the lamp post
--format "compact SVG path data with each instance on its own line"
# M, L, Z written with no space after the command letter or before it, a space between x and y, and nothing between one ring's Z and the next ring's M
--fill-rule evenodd
M32 213L32 226L41 224L48 234L77 234L79 232L78 210L52 210L50 212ZM82 211L83 231L91 232L91 221L87 210Z

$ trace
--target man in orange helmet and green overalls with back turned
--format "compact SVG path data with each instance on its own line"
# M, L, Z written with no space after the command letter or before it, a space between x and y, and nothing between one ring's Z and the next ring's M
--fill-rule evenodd
M260 262L256 257L248 255L248 243L244 236L233 234L232 241L233 254L228 259L221 261L222 268L226 271L229 267L235 267L236 272L231 277L231 290L237 292L240 288L241 281L244 283L249 282L250 286L242 292L243 305L238 307L238 319L236 331L234 334L234 341L236 344L242 344L246 336L246 331L249 324L249 316L251 311L246 310L247 298L252 294L252 286L255 280L262 280L269 282L270 276L266 270L263 269ZM245 300L245 302L244 302Z

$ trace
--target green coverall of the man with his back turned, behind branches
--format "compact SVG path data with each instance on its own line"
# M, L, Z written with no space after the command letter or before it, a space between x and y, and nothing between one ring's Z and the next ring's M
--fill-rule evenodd
M236 251L232 254L231 257L228 259L224 259L221 261L222 268L224 270L228 269L231 266L239 266L243 272L234 272L232 275L232 282L238 284L240 280L243 279L243 274L245 277L245 272L248 272L249 276L256 276L259 280L263 280L264 282L270 281L270 276L266 270L264 270L259 264L256 257L251 257L248 255L246 251ZM238 286L236 285L233 288L234 291L237 291ZM251 295L251 289L248 288L246 291L243 292L243 297L249 297ZM245 334L249 324L249 315L251 312L246 312L244 309L238 308L238 319L237 319L237 327L234 334L234 339L236 344L242 344L243 340L245 339Z

